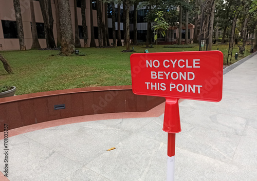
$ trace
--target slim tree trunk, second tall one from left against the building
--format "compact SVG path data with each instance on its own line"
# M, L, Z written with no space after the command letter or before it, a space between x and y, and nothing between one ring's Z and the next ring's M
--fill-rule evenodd
M40 49L38 32L36 31L35 24L35 13L34 13L34 4L33 0L30 0L30 15L31 15L31 31L32 31L32 46L31 49Z

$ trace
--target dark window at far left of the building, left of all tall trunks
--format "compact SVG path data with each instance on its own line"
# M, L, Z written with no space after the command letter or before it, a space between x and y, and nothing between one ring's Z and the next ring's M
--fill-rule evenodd
M4 38L19 38L15 21L2 20Z

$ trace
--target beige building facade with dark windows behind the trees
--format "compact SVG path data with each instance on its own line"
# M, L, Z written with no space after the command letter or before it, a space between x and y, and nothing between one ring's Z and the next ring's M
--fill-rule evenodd
M77 15L78 15L78 25L79 25L79 34L80 34L80 41L82 47L84 46L84 39L83 39L83 28L82 28L82 16L81 16L81 0L77 0ZM88 32L88 39L87 45L89 45L90 39L90 9L89 9L89 0L86 0L86 24L87 24L87 32ZM39 1L33 1L34 4L34 12L35 12L35 21L36 21L36 29L38 31L38 38L41 48L46 48L46 39L45 39L45 30L44 30L44 21L43 16L40 8ZM30 14L30 4L29 0L20 0L21 5L21 12L22 12L22 20L23 20L23 29L24 29L24 38L25 38L25 45L26 49L30 49L32 46L32 32L31 32L31 14ZM72 22L72 30L75 35L75 10L74 10L74 0L69 0L70 5L70 12L71 12L71 22ZM56 10L54 6L54 0L51 0L51 7L52 7L52 16L54 19L53 22L53 36L57 43L57 28L56 28ZM131 7L130 15L132 16L134 7ZM115 5L116 11L116 31L117 31L117 5ZM104 16L104 8L102 7L102 14ZM144 22L144 17L146 15L146 9L142 8L138 10L138 17L137 17L137 39L138 42L145 42L146 41L146 32L147 32L147 23ZM109 42L110 44L113 43L113 32L112 32L112 10L111 6L108 5L107 8L107 16L108 16L108 35L109 35ZM121 5L121 39L123 39L123 10ZM130 27L130 35L131 39L133 38L133 17L130 17L131 27ZM104 19L104 18L103 18ZM96 12L96 2L93 0L93 26L94 26L94 34L95 34L95 42L98 46L98 27L97 27L97 12ZM190 33L193 35L193 29L190 29ZM173 38L173 40L177 39L177 29L170 28L168 33L168 38ZM182 30L183 33L183 30ZM190 36L191 36L190 34ZM117 38L117 36L116 36ZM159 42L161 42L162 37L160 37ZM191 36L190 38L193 38ZM165 38L164 38L165 39ZM167 39L166 39L167 40ZM169 40L169 39L168 39ZM122 41L123 42L123 41ZM13 7L13 1L10 0L0 0L0 51L1 50L19 50L19 38L17 35L17 28L16 28L16 18L15 12Z

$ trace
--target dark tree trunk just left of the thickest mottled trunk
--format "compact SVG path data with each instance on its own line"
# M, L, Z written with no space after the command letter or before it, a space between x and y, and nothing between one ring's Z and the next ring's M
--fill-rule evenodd
M56 48L56 43L53 38L53 18L51 0L39 0L40 8L44 19L44 29L46 37L46 45L48 48ZM58 3L60 4L60 2ZM60 10L59 10L60 12Z

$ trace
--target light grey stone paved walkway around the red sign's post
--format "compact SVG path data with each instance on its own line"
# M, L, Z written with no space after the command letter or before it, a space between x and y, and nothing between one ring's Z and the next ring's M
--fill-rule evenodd
M176 135L176 180L257 179L257 55L224 71L221 102L179 104L182 131ZM163 105L159 109L164 111ZM77 117L81 123L10 137L9 180L166 180L163 114L119 115L90 122L88 116ZM3 152L3 140L0 145ZM112 147L116 149L106 151ZM2 172L4 156L0 155Z

